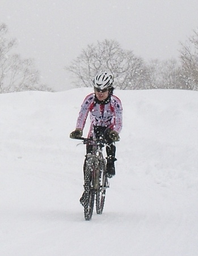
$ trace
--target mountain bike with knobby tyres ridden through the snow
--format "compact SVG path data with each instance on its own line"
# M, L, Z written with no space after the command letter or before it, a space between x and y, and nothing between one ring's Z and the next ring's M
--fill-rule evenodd
M96 213L102 214L106 189L109 187L106 175L106 159L103 157L103 147L108 146L103 139L83 138L83 144L92 145L92 153L86 154L85 177L83 192L83 207L85 220L91 220L96 203Z

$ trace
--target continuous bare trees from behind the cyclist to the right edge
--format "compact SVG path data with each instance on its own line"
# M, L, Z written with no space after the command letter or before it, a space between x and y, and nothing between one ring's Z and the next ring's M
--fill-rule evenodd
M179 60L150 60L125 51L115 40L90 44L65 69L75 87L90 87L98 72L107 70L121 90L183 89L198 90L198 31L180 44Z

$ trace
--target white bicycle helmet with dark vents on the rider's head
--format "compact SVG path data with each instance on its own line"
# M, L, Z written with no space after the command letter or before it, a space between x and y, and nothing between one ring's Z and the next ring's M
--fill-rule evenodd
M96 77L93 80L93 85L95 88L98 88L100 90L109 89L113 86L113 75L108 74L107 72L103 72L99 75L96 75Z

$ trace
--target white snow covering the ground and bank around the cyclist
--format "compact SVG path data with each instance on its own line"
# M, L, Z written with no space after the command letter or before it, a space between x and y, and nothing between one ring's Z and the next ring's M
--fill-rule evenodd
M0 95L0 255L198 255L198 92L115 91L116 176L85 221L85 146L69 133L91 91Z

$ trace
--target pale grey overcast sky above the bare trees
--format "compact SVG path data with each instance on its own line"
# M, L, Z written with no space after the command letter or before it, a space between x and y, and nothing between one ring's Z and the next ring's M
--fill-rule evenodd
M98 40L145 60L178 57L180 41L198 28L198 0L1 0L0 23L18 39L16 53L35 59L41 81L65 90L64 66Z

